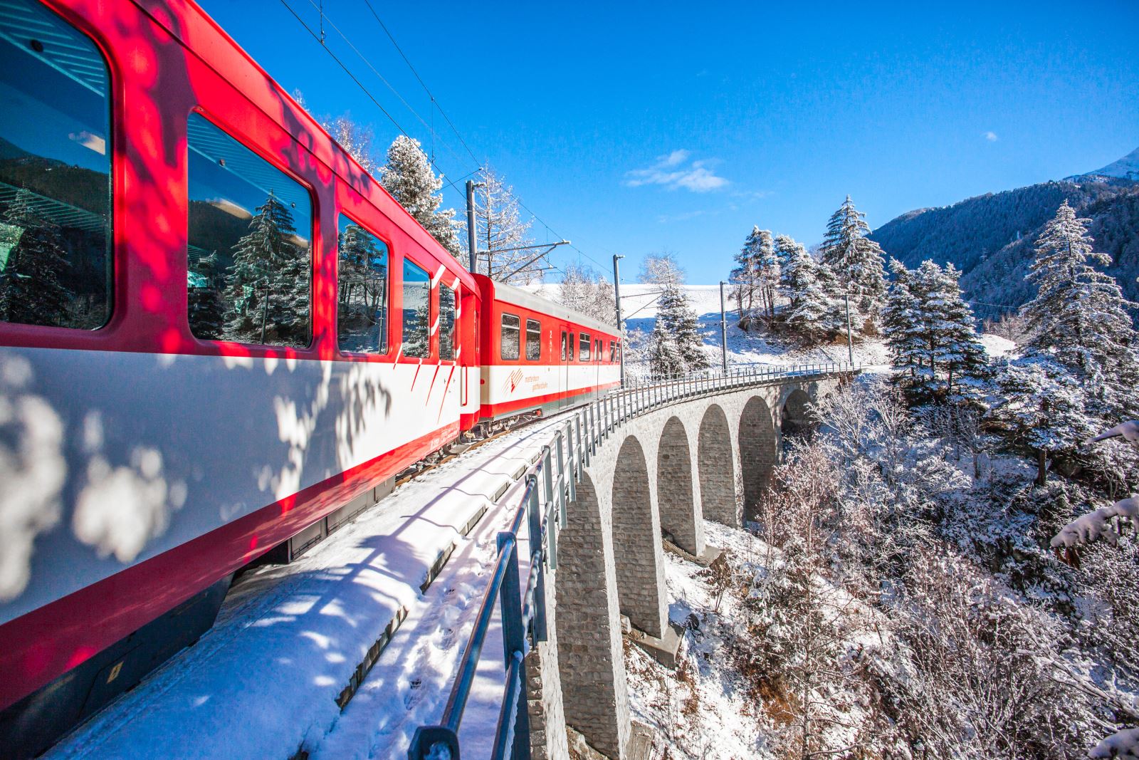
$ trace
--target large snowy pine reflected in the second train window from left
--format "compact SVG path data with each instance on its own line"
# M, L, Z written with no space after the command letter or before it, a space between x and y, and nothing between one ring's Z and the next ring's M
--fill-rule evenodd
M272 191L233 245L223 295L222 336L273 345L309 344L309 247L298 245L293 214Z

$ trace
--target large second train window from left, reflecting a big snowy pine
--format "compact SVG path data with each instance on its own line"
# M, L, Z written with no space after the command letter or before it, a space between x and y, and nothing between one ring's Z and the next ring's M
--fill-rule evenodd
M312 199L190 114L187 316L206 340L304 348L312 335Z

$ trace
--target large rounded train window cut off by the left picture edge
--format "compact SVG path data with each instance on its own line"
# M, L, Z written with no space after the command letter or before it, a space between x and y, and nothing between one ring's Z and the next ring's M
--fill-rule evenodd
M0 321L110 318L109 89L84 34L33 0L0 6Z

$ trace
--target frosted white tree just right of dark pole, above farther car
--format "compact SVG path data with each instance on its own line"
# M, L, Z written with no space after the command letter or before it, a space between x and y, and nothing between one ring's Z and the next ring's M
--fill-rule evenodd
M483 169L483 187L475 194L475 227L480 248L490 252L480 260L478 271L493 280L528 285L541 281L546 259L539 251L525 248L533 243L530 221L522 220L514 188L493 169Z

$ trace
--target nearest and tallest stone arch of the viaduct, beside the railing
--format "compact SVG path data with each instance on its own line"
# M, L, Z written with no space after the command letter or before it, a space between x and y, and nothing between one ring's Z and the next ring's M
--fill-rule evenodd
M566 725L609 758L629 743L629 692L608 504L582 473L558 533L556 618Z

